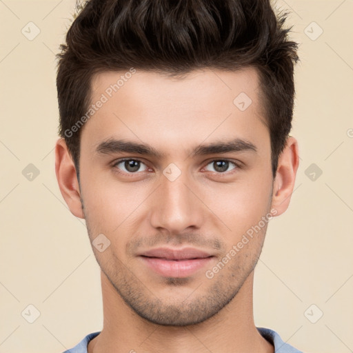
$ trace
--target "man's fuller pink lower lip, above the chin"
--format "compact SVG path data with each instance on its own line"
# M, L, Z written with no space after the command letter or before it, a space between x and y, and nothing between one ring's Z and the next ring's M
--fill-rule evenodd
M210 263L214 256L204 259L165 260L157 257L140 256L154 272L168 277L187 277Z

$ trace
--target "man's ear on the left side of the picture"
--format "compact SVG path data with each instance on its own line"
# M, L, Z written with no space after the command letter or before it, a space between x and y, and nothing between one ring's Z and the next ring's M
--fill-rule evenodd
M55 145L55 173L61 195L63 195L71 213L84 219L76 168L63 138L59 139Z

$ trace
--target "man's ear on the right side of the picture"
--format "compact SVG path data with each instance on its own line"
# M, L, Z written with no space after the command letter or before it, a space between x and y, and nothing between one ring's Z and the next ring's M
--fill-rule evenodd
M285 148L279 156L276 177L274 178L272 208L279 216L287 210L294 189L296 171L299 167L298 142L294 137L288 137Z

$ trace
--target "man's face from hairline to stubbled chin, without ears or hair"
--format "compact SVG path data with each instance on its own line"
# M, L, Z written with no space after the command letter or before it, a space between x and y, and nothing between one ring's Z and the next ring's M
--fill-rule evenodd
M101 248L110 241L102 252L92 248L137 314L161 325L200 323L234 298L263 245L267 222L260 221L270 212L273 180L258 77L251 68L194 71L184 79L137 70L117 92L109 90L121 75L94 78L92 103L102 94L108 101L81 131L80 192L90 241L99 234ZM248 108L241 92L252 100ZM161 156L102 147L112 139L149 145ZM234 139L245 143L192 153ZM194 248L212 257L141 256L157 248Z

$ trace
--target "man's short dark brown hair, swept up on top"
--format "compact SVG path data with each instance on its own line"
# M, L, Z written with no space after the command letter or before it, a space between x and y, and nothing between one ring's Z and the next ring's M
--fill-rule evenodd
M292 128L298 44L270 0L90 0L66 35L57 71L59 135L79 177L80 132L94 74L136 68L169 76L255 67L270 133L272 174ZM66 133L65 133L66 132Z

